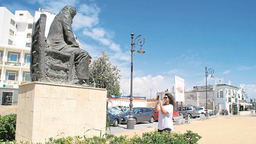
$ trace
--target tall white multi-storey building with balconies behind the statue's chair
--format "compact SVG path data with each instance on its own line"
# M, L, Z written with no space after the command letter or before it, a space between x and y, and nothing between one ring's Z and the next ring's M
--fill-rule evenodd
M0 104L15 105L21 83L31 81L30 49L33 16L28 11L12 14L0 7Z

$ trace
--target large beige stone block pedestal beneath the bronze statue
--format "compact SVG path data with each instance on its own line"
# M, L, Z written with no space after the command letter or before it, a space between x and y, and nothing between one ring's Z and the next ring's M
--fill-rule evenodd
M105 131L106 125L106 96L105 89L93 87L20 85L15 139L36 143L49 137L100 136L98 130Z

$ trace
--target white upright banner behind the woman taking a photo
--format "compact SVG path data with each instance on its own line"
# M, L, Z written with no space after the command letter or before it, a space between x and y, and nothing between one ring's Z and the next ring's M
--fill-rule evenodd
M184 79L175 76L175 101L184 102Z

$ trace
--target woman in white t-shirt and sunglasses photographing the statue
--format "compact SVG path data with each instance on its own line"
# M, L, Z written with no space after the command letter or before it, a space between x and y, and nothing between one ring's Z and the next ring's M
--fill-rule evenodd
M164 104L161 99L157 99L156 112L158 115L158 132L174 130L172 122L173 109L175 108L175 100L171 94L165 94L163 97Z

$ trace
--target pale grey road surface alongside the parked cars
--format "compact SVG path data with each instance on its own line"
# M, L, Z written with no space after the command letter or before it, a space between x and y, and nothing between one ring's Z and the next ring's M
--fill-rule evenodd
M210 116L210 118L214 118L216 116ZM192 118L190 119L190 121L195 121L195 120L200 120L200 118ZM134 130L146 130L148 128L157 128L158 127L158 122L154 121L154 123L149 123L149 122L142 122L142 123L138 123L136 125L134 125ZM110 126L110 128L107 129L107 133L108 134L115 134L115 133L120 133L120 132L130 132L130 131L134 131L134 130L128 130L127 129L127 125L126 124L121 124L118 125L117 127L112 127Z

